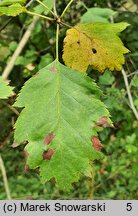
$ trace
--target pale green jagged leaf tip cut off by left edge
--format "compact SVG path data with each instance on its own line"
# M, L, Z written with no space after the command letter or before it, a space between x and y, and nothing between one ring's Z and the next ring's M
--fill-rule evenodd
M2 77L0 77L0 99L7 99L9 96L13 95L13 88L8 86L7 82L4 82Z

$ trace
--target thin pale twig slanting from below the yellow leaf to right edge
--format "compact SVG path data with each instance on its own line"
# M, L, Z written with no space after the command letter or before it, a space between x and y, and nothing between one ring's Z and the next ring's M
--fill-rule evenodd
M128 95L128 99L129 99L129 103L130 103L130 108L132 109L136 119L138 120L138 112L137 112L136 107L135 107L134 102L133 102L133 98L132 98L131 91L130 91L130 88L129 88L127 75L125 73L124 68L122 68L121 72L122 72L122 75L123 75L123 78L124 78L124 82L125 82L125 86L126 86L126 90L127 90L127 95Z

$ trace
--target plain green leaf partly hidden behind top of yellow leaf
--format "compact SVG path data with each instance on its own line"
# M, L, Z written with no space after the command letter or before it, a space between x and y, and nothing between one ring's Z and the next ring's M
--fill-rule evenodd
M109 18L116 14L109 8L89 8L81 17L81 23L104 22L109 23Z

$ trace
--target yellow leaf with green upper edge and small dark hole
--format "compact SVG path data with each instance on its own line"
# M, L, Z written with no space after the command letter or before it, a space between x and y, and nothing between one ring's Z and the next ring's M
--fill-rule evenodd
M67 30L63 60L73 69L86 72L89 65L99 72L105 69L120 71L125 62L124 47L118 33L128 23L87 23Z

